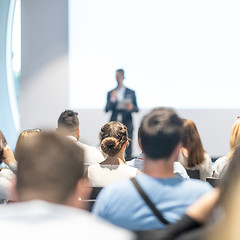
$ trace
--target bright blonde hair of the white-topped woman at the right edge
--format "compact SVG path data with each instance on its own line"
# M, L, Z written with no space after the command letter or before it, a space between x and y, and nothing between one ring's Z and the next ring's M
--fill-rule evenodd
M240 119L238 118L234 123L230 136L230 152L227 157L229 160L232 159L236 147L240 144Z

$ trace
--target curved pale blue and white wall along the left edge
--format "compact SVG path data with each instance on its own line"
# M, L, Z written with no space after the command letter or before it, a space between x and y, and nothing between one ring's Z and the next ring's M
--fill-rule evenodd
M12 23L15 0L0 1L0 129L14 148L19 131L18 103L12 75Z

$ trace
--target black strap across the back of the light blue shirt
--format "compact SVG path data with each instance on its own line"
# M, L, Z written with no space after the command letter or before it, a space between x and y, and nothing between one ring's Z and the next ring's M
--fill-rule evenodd
M162 213L155 207L155 205L152 203L150 198L146 195L146 193L140 187L140 185L137 182L137 180L135 178L132 178L131 181L132 181L133 185L135 186L135 188L137 189L137 191L140 194L140 196L143 198L143 200L146 202L146 204L149 206L149 208L151 208L152 212L159 219L159 221L162 222L165 225L169 224L169 221L166 220L163 217Z

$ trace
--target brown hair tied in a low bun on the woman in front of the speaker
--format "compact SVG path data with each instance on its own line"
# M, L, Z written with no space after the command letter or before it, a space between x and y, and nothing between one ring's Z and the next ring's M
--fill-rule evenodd
M102 151L113 157L128 141L127 127L120 122L109 122L101 128L100 140Z

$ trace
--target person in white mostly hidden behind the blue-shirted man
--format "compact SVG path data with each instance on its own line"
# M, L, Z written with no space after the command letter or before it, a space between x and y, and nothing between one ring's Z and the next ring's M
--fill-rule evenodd
M143 149L142 149L142 145L141 145L141 138L140 138L140 129L138 129L138 145L140 147L140 149L142 150L142 153L140 153L140 155L135 158L132 159L131 161L127 161L126 164L128 166L131 167L135 167L137 168L139 171L143 171L143 167L144 167L144 153L143 153ZM183 167L183 165L180 162L175 161L174 165L173 165L173 172L176 176L185 178L185 179L189 179L189 176L185 170L185 168Z

